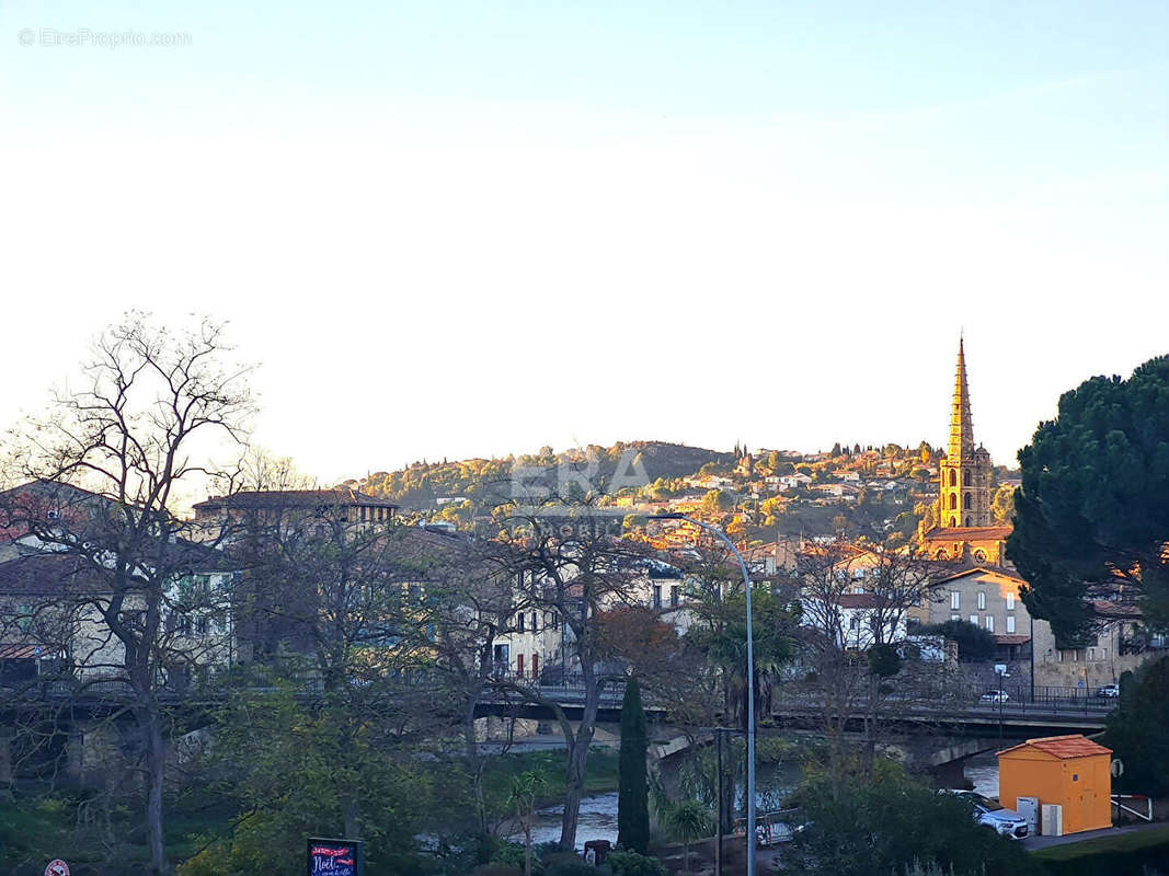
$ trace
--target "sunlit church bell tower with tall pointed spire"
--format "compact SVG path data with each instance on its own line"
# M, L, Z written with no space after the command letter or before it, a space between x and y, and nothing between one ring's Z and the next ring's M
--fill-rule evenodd
M938 526L943 529L989 527L990 453L974 444L970 419L970 390L966 381L966 352L957 342L957 374L950 405L949 453L940 465Z

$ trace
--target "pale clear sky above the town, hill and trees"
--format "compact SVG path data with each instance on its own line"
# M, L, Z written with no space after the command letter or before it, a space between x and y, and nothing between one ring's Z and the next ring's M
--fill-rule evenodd
M228 320L323 480L943 444L961 332L1011 464L1169 353L1167 44L1163 2L5 0L0 425L145 308Z

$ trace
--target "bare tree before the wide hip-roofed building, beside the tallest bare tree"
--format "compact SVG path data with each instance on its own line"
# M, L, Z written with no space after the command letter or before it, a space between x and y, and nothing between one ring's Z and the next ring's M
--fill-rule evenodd
M371 758L394 757L449 732L444 694L429 681L436 658L429 603L459 568L462 540L397 524L345 488L236 494L263 513L233 550L248 564L244 591L263 625L261 673L313 693L340 744L336 758L340 829L360 839ZM250 531L258 529L258 531ZM431 592L434 591L434 592ZM325 813L321 813L325 815Z

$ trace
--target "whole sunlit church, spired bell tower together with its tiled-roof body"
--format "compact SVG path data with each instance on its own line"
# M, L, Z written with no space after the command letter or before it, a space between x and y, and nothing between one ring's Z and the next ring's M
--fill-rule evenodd
M995 526L990 513L990 453L974 443L970 390L963 341L957 343L957 373L950 404L949 452L939 466L936 526L922 533L926 555L934 559L1003 565L1009 526Z

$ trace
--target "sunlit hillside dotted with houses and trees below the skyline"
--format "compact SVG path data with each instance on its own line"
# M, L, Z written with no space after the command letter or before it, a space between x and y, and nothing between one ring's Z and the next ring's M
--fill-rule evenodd
M807 454L620 442L503 459L423 460L346 484L397 502L408 520L462 529L479 528L498 507L524 503L540 488L580 495L588 485L600 505L628 508L628 524L635 527L645 513L678 510L750 540L831 534L884 540L909 537L921 521L932 524L941 456L925 442L837 444ZM1007 475L996 470L996 479ZM1010 493L1009 486L996 493L996 515L1009 515Z

